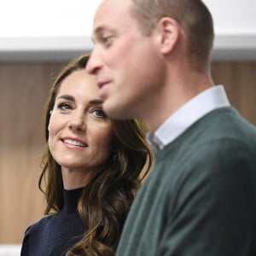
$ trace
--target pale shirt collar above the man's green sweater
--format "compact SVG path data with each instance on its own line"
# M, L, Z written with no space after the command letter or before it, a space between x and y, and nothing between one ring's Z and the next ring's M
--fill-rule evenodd
M154 151L172 143L198 119L217 108L230 106L223 85L215 85L185 103L154 132L148 132L147 140Z

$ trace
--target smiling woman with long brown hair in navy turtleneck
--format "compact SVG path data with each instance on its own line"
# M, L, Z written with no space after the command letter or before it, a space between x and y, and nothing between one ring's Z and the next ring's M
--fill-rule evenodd
M102 111L88 59L69 63L49 90L39 179L47 216L26 230L21 255L113 255L143 166L147 174L152 165L143 124Z

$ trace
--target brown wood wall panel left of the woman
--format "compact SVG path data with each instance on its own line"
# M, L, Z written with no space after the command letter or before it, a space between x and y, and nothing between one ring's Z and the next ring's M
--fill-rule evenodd
M42 112L60 68L61 63L0 65L0 243L20 243L26 227L43 214Z

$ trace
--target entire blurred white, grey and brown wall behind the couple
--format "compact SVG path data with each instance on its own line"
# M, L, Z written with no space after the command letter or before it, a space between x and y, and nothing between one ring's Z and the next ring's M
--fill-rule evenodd
M215 84L224 84L230 102L256 125L256 2L204 2L216 32ZM0 3L0 255L15 255L7 254L10 245L20 245L26 227L44 214L44 197L38 189L44 101L61 67L92 49L93 15L99 3Z

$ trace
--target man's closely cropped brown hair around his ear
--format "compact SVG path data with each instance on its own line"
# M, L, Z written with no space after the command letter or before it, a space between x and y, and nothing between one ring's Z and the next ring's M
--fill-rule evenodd
M132 0L131 15L144 35L150 35L163 17L182 27L188 40L188 55L208 63L214 38L212 15L201 0Z

